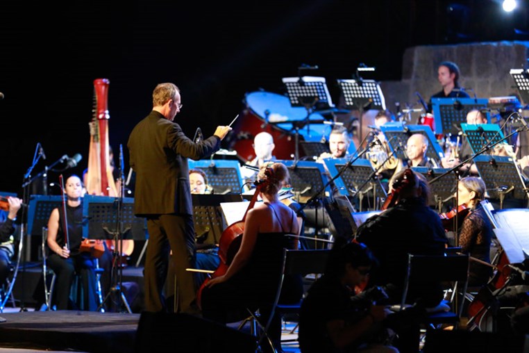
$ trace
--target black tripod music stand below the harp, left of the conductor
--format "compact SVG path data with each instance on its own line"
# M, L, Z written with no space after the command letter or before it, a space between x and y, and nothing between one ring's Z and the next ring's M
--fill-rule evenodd
M115 240L115 256L112 266L112 279L116 284L110 288L109 293L99 304L100 311L110 295L117 295L118 300L126 307L128 313L132 313L124 293L121 291L121 240L134 239L144 240L146 238L146 219L134 215L134 199L132 197L108 197L85 195L83 197L83 238ZM119 270L117 267L119 266ZM119 311L121 306L118 306Z

